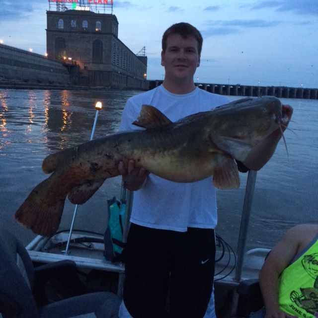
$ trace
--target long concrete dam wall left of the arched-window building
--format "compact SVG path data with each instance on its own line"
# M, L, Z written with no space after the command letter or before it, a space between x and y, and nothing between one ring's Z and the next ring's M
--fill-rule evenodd
M71 77L62 63L0 44L0 85L16 88L33 85L65 87L71 85Z

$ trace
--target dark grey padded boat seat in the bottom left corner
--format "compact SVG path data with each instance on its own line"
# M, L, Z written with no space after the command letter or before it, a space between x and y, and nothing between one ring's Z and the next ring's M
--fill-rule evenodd
M0 259L0 314L3 318L118 317L120 299L117 295L110 292L81 294L85 289L79 279L75 279L73 261L34 267L23 244L2 227ZM44 298L44 294L48 295Z

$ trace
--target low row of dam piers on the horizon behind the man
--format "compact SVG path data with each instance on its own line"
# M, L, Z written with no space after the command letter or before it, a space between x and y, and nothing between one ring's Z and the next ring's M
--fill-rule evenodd
M149 88L159 86L162 80L150 80ZM248 86L231 84L196 83L200 88L211 93L232 96L276 96L278 98L318 99L318 88L286 87L286 86Z

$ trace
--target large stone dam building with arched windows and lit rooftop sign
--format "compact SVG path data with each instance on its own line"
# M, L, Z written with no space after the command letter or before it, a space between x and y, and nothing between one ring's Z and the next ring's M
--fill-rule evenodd
M118 20L112 14L112 0L70 2L49 0L47 58L67 66L77 85L144 89L145 49L136 55L118 39ZM93 11L94 7L97 12ZM99 13L107 9L111 13Z

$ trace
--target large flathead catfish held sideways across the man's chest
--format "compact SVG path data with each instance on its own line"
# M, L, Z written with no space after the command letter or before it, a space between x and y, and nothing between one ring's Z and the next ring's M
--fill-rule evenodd
M234 159L246 159L260 140L288 121L279 99L270 96L243 98L174 123L155 107L143 105L134 124L145 130L112 134L46 157L43 171L53 173L32 190L15 219L37 234L53 235L67 194L74 204L86 202L106 178L119 174L120 160L127 166L134 159L137 167L171 181L213 175L216 187L237 188ZM258 169L264 163L248 167Z

